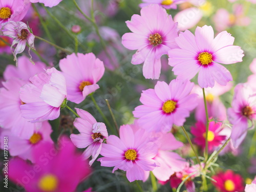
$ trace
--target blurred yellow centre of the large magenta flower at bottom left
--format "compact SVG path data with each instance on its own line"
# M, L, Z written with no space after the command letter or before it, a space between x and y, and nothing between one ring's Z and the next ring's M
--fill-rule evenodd
M48 174L43 176L39 182L38 187L45 192L55 191L57 189L58 180L56 176Z

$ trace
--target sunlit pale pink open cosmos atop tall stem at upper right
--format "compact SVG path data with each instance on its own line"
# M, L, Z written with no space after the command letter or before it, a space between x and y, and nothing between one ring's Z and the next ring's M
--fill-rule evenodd
M225 86L232 76L218 62L241 62L244 56L239 46L233 46L234 38L229 33L223 31L214 38L211 26L197 27L195 36L186 30L175 40L181 49L168 52L169 65L180 79L191 79L199 72L201 88L214 87L215 81Z

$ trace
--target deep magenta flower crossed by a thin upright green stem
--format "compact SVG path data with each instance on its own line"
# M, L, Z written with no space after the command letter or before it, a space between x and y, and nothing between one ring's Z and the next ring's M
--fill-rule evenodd
M222 123L216 123L211 121L209 123L208 131L208 150L210 152L214 151L223 141L226 139L225 135L221 135ZM191 134L195 136L194 142L199 145L201 148L205 148L205 137L206 137L206 126L203 122L198 121L195 126L191 127Z

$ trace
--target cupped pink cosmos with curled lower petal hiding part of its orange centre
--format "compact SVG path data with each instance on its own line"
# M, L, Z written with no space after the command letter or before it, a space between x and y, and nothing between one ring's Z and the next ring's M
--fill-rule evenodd
M59 67L67 82L67 99L80 103L87 95L99 89L96 84L103 76L103 62L93 53L75 53L59 61Z

